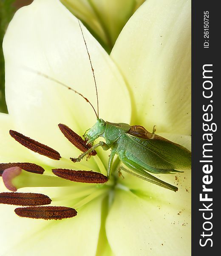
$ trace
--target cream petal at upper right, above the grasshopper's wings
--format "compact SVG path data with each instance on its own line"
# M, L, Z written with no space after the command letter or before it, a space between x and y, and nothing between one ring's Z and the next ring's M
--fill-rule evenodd
M133 99L132 122L190 135L191 1L148 0L111 52Z

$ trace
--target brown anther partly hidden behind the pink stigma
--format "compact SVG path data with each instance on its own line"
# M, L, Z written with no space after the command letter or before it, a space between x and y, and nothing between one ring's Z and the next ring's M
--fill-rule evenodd
M2 176L5 169L18 166L27 172L43 174L45 171L41 166L35 163L0 163L0 176Z

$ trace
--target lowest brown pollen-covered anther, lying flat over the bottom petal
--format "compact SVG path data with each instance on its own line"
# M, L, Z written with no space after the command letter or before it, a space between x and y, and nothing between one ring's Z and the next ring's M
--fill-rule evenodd
M77 211L74 208L64 206L19 207L14 212L20 217L45 220L61 220L77 215Z

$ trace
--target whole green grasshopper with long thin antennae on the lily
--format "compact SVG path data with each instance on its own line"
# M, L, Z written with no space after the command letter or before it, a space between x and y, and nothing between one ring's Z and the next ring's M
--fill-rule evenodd
M81 32L82 28L79 23ZM85 38L82 32L83 40ZM88 52L88 47L85 42L85 47ZM91 63L91 57L88 52L89 61ZM79 162L84 157L90 157L90 153L98 147L102 147L103 150L108 150L111 148L111 154L108 160L107 166L107 177L111 176L111 169L113 164L113 158L118 155L119 160L129 169L124 166L119 167L120 170L128 172L136 177L147 180L151 183L177 191L178 188L169 183L166 183L150 173L153 174L169 174L180 172L177 169L191 169L191 152L184 148L183 146L173 143L157 134L155 134L155 129L150 133L141 125L130 126L126 123L113 123L104 121L99 118L99 104L98 104L98 93L96 87L96 79L94 75L94 69L91 63L91 70L94 76L94 83L96 88L97 97L97 111L95 111L94 106L91 102L85 98L81 93L77 92L73 88L63 84L62 82L53 79L45 74L38 73L41 76L45 76L47 79L51 79L62 86L73 90L75 93L80 95L85 99L93 108L96 114L96 123L92 128L85 131L83 135L84 141L91 146L87 151L81 154L77 158L70 158L73 162ZM99 141L94 145L94 141L98 137L103 137L105 142ZM149 173L150 172L150 173Z

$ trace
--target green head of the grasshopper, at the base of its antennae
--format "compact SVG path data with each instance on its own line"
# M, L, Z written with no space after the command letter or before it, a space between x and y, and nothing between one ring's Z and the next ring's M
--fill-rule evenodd
M93 144L94 140L96 140L99 136L101 136L105 132L106 122L98 118L96 123L85 133L84 138L87 140L87 144Z

